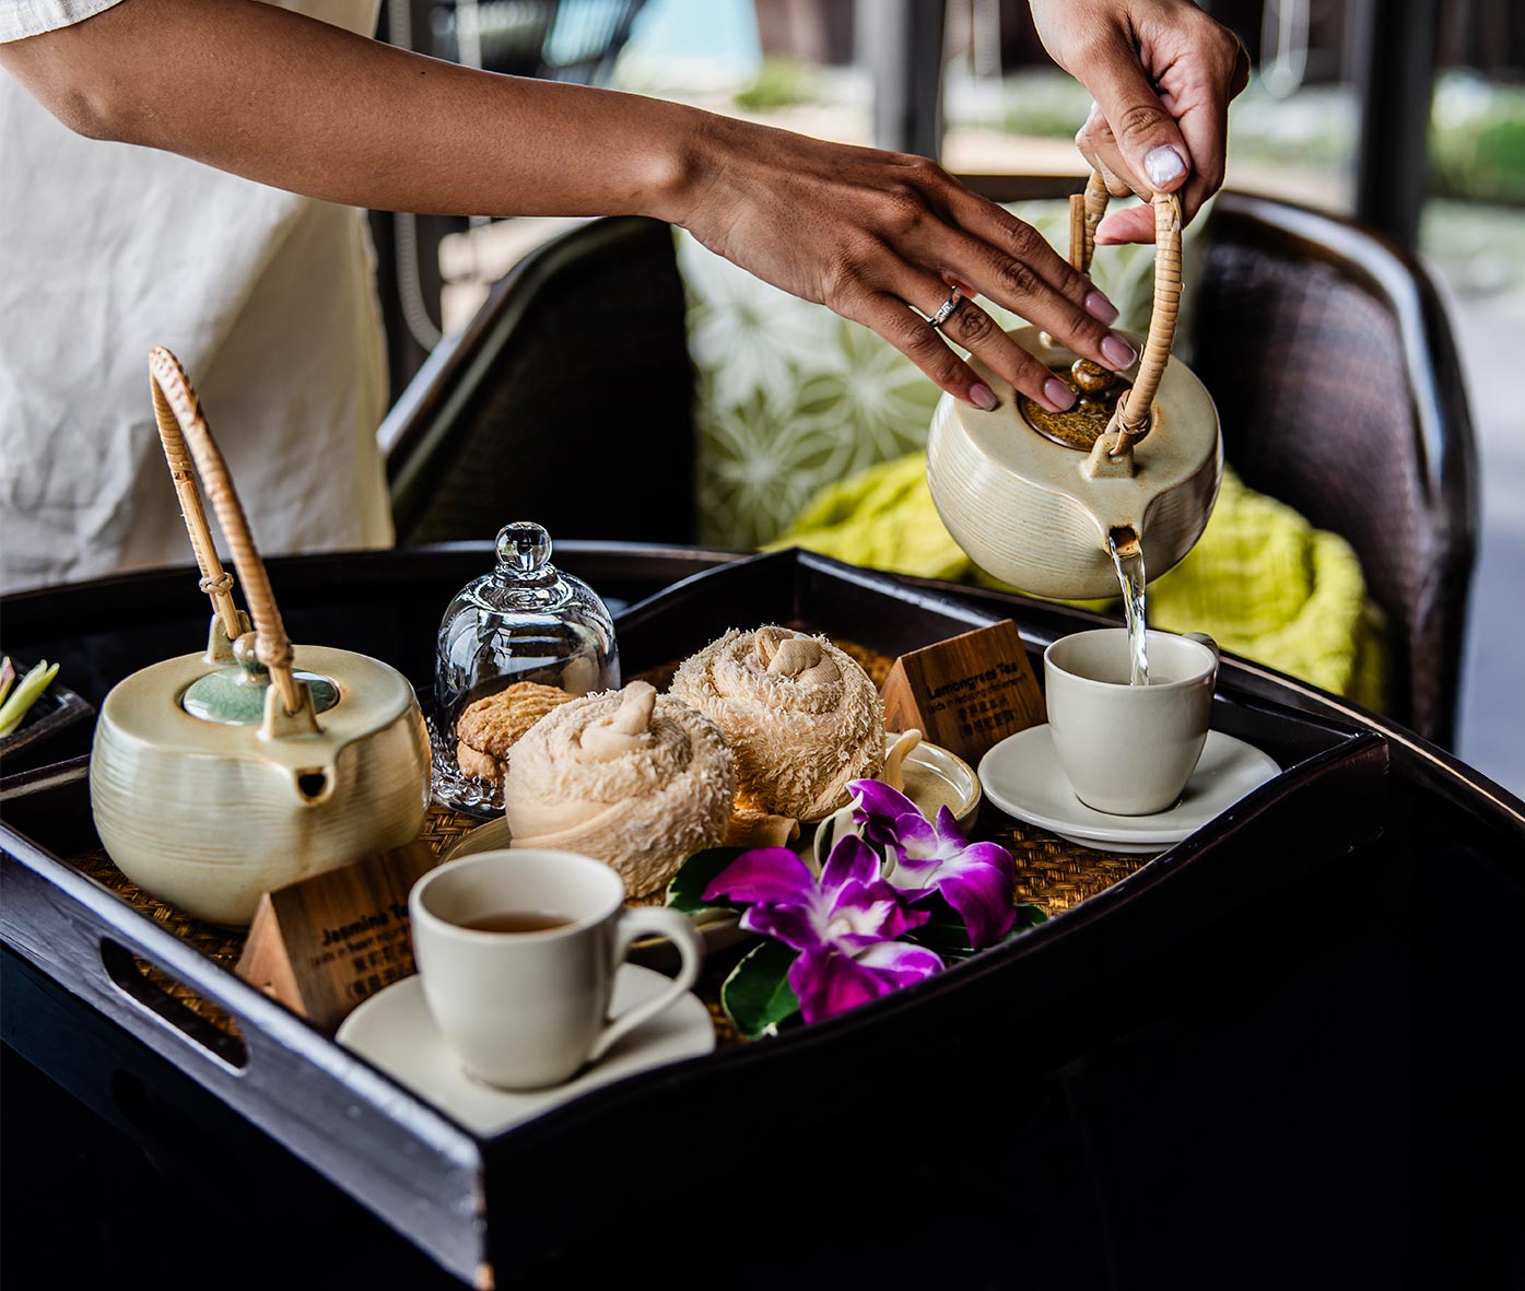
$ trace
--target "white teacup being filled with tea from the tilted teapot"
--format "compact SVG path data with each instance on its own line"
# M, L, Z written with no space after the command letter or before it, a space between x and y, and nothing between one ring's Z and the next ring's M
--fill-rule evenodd
M1148 633L1148 686L1130 686L1127 628L1060 637L1043 651L1049 732L1075 796L1113 815L1165 811L1208 739L1218 648L1202 633Z

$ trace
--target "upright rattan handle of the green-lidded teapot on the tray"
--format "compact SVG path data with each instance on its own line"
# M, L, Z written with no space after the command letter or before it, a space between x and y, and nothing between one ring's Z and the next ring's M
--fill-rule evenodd
M154 416L159 422L159 437L165 445L165 459L180 497L191 546L201 567L201 587L212 597L223 626L233 640L239 634L238 608L233 605L233 582L223 570L212 530L201 508L197 476L212 498L217 523L227 538L233 556L233 569L244 584L249 597L249 614L255 620L255 657L270 669L270 680L281 694L287 713L296 713L311 704L307 687L291 674L291 639L285 634L281 611L270 591L265 564L259 559L255 540L249 532L244 506L227 474L223 453L212 439L212 431L201 413L191 380L180 361L163 346L156 346L148 355L148 372L154 393Z

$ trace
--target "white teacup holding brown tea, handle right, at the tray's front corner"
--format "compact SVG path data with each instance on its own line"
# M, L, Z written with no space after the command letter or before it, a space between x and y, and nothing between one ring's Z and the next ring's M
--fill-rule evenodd
M619 875L573 852L515 847L447 861L413 884L409 913L435 1023L471 1075L506 1090L557 1085L596 1062L676 1003L705 959L685 915L627 908ZM651 934L677 947L677 979L610 1018L615 974L631 942Z

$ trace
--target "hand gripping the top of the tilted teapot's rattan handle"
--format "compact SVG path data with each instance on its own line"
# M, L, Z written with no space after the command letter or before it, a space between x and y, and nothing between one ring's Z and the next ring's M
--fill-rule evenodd
M1049 56L1095 105L1075 142L1113 197L1180 189L1186 219L1223 183L1229 101L1249 81L1238 38L1186 0L1032 0ZM1115 210L1098 242L1153 242L1147 207Z

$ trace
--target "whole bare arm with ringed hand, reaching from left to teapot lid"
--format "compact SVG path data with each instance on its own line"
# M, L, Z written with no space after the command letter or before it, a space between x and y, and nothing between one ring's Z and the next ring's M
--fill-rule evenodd
M256 0L122 0L0 46L0 66L84 134L329 201L682 224L766 282L872 328L985 410L999 396L947 341L1045 407L1069 407L1075 392L996 325L981 293L1093 363L1135 361L1084 274L921 157L471 72Z

